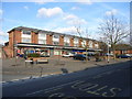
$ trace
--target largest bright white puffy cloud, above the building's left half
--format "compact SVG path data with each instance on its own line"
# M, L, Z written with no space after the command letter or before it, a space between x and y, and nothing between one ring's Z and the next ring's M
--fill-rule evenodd
M63 14L63 10L58 7L50 8L50 9L41 8L37 10L36 16L37 18L45 18L45 16L51 18L53 15L58 15L58 14Z

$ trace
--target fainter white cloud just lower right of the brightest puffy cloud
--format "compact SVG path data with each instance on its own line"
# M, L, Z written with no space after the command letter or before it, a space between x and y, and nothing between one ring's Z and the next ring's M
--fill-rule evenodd
M85 19L78 18L75 14L66 14L66 16L64 18L64 20L66 21L67 24L87 24L87 21Z

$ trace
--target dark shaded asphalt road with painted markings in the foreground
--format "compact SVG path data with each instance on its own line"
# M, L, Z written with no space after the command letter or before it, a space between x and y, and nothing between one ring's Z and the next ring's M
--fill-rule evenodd
M130 97L131 61L86 70L3 84L3 97Z

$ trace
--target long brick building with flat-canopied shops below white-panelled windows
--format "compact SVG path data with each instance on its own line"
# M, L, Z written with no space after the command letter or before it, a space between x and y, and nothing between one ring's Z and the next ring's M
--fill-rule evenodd
M24 53L41 53L55 56L63 54L84 54L101 51L99 42L91 38L56 33L32 28L19 26L9 33L9 42L4 44L4 52L9 57Z

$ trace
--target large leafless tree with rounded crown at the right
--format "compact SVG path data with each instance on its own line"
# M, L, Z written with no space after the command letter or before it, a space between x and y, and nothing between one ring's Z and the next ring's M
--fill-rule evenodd
M103 38L106 38L105 42L111 45L116 58L116 44L130 34L129 26L111 13L111 15L107 16L100 24L99 32L102 34Z

